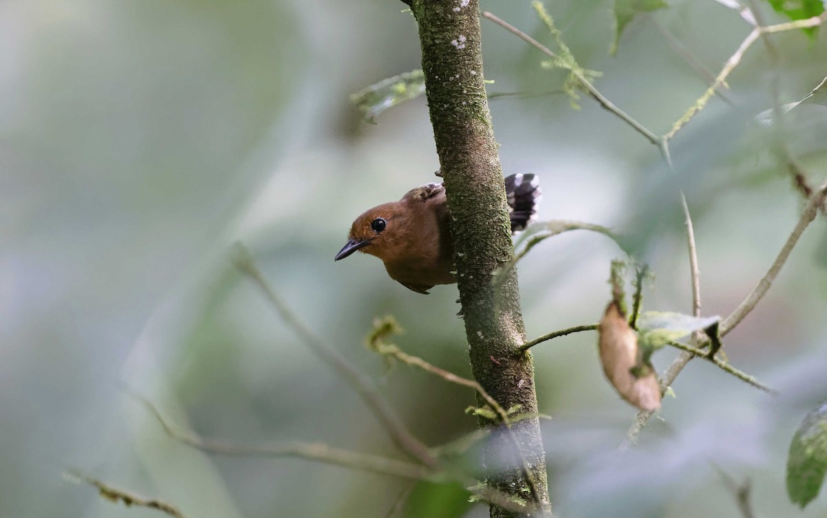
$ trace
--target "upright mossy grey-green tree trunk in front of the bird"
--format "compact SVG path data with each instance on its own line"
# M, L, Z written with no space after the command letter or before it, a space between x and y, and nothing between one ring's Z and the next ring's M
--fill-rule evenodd
M497 143L483 83L478 0L414 0L428 108L445 180L455 242L457 284L471 368L476 381L504 409L537 415L530 354L525 343L517 277L512 270L495 290L493 272L514 254ZM490 424L486 421L483 424ZM536 417L514 423L523 458L543 511L550 511L545 454ZM526 499L531 493L514 440L497 434L485 462L489 483ZM503 458L509 457L506 467ZM496 506L491 516L521 516Z

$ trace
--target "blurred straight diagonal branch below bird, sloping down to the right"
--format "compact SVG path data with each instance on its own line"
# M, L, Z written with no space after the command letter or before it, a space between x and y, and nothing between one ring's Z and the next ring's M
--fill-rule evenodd
M410 430L404 425L402 420L399 419L399 416L396 415L394 409L388 404L388 401L376 390L373 381L359 372L356 367L353 367L336 349L328 347L326 343L323 343L321 338L318 338L315 333L308 329L308 327L293 314L289 307L284 304L284 301L275 295L275 291L267 283L258 266L256 266L250 252L248 252L246 247L241 243L237 245L235 264L241 272L249 276L261 289L276 313L284 319L284 323L287 324L290 329L293 329L294 333L299 336L313 353L344 377L353 390L361 396L362 400L365 401L366 405L385 427L394 444L404 452L409 453L412 457L417 458L429 468L436 468L438 463L437 458L433 456L427 445L414 437L414 434L411 434Z

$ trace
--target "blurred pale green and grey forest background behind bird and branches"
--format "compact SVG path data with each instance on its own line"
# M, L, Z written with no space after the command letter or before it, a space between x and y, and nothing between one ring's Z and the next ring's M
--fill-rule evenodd
M769 22L783 22L757 2ZM571 50L604 72L597 87L666 132L708 81L657 26L717 73L748 34L716 2L670 2L636 19L609 57L612 2L547 2ZM482 7L551 43L528 2ZM370 374L428 444L474 429L470 391L362 346L394 314L409 353L468 375L455 286L423 296L380 261L333 255L362 210L433 181L423 99L368 125L349 96L418 68L416 26L385 0L9 0L0 3L0 516L157 516L67 482L77 468L179 506L187 516L386 516L409 482L301 459L218 458L169 439L136 400L184 429L237 444L323 441L398 455L361 400L313 357L230 264L245 242L265 276L325 340ZM657 24L657 25L656 25ZM563 74L483 23L490 92L543 94ZM695 216L705 314L753 289L803 205L753 122L827 74L824 32L762 42L672 145L657 150L597 106L565 95L492 100L506 174L542 178L542 219L600 223L640 237L657 279L646 309L691 311L677 187ZM827 107L786 119L791 152L820 183ZM568 233L520 266L529 338L599 319L609 297L605 237ZM634 412L605 382L595 335L534 353L552 500L566 518L737 516L713 464L753 483L758 516L804 512L784 490L786 448L827 399L827 225L808 228L762 304L725 341L767 396L706 362L673 386L662 420L617 458ZM658 367L675 353L655 358ZM419 516L427 491L415 492ZM444 509L442 506L437 506ZM421 511L422 516L439 516ZM608 513L608 514L607 514ZM455 515L456 516L456 515ZM485 506L466 516L487 516Z

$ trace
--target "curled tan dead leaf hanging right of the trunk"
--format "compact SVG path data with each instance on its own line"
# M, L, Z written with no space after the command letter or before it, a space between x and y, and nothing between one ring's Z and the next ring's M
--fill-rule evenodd
M606 307L598 333L603 372L618 394L640 410L660 408L661 389L655 371L643 362L638 335L616 301Z

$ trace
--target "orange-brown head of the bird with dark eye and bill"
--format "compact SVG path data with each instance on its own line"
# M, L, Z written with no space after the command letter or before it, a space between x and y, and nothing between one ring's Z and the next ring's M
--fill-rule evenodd
M357 250L385 258L385 250L393 241L394 228L403 218L399 202L381 204L362 213L351 225L350 241L336 254L335 261L344 259Z

